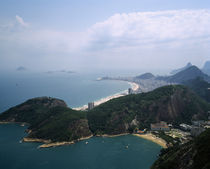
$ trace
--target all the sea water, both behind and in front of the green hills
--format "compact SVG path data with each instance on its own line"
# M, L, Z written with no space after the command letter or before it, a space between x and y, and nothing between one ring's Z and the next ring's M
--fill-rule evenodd
M127 90L120 81L97 81L103 74L15 73L0 75L0 112L29 98L50 96L69 107ZM20 143L26 127L0 125L1 169L149 169L161 147L132 136L92 137L73 145L38 149L39 143ZM128 146L128 148L126 148Z

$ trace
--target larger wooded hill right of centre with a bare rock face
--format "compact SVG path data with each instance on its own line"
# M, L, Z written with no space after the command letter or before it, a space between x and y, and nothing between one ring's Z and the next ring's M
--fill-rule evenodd
M88 112L87 117L94 134L120 134L136 127L149 128L161 120L175 124L205 119L208 110L209 104L189 89L171 85L113 99Z

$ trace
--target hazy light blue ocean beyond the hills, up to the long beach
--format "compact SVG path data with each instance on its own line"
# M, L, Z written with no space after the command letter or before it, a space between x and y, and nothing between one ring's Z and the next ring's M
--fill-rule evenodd
M0 112L27 99L50 96L63 99L69 107L126 90L130 85L120 81L97 81L103 74L85 73L7 73L0 74Z

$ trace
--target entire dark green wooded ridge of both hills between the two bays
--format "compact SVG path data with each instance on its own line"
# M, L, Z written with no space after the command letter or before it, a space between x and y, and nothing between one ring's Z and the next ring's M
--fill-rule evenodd
M75 111L64 101L34 98L0 114L0 121L26 122L28 137L72 141L93 134L121 134L150 128L161 120L190 123L207 118L209 104L184 86L171 85L152 92L112 99L91 111Z

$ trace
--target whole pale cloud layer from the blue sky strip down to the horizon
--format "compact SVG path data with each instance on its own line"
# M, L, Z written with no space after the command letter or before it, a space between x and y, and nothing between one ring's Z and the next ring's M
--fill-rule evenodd
M60 63L68 70L79 64L100 67L110 63L113 67L170 67L175 62L177 66L189 61L201 64L210 58L207 9L114 14L83 32L36 29L18 15L14 23L5 25L0 23L2 63L10 59L19 65L22 61L43 67L52 64L48 70L63 69L55 68Z

